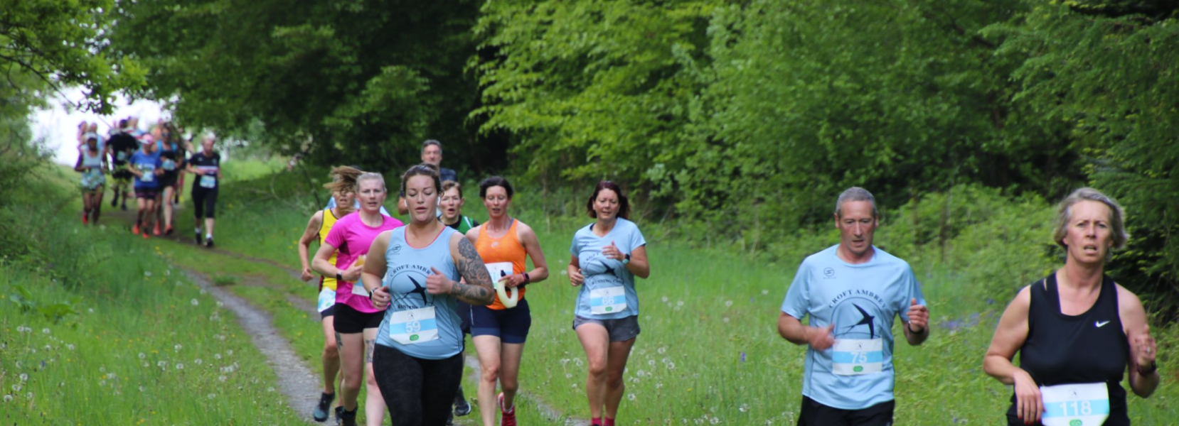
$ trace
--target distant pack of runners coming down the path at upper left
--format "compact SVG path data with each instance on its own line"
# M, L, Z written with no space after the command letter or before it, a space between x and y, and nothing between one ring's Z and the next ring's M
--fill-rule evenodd
M78 125L78 142L74 169L81 173L84 225L98 224L110 175L114 188L112 208L119 206L121 195L121 208L126 211L127 199L134 195L136 224L131 232L144 239L170 235L174 206L180 202L185 174L190 173L195 239L198 245L213 246L213 214L222 175L220 153L215 149L212 135L202 139L198 152L172 124L160 120L143 131L139 119L131 117L119 120L106 137L98 133L98 122L83 121Z

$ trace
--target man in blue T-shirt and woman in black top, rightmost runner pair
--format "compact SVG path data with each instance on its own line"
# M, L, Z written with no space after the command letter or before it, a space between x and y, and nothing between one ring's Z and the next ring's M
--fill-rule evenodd
M983 361L987 374L1014 387L1008 425L1126 426L1122 374L1139 397L1158 387L1158 347L1142 304L1105 274L1111 251L1128 239L1124 217L1092 188L1060 202L1053 239L1065 265L1019 292ZM894 320L901 318L909 345L921 345L929 309L909 265L872 245L871 193L844 191L835 226L839 244L803 260L778 318L784 339L808 346L798 424L888 426Z

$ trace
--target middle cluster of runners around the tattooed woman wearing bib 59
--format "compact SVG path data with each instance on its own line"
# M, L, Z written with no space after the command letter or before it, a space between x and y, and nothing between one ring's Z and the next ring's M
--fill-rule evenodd
M325 186L332 202L311 215L298 245L303 279L321 279L324 375L312 408L317 421L330 417L338 390L336 421L355 425L363 381L370 426L380 425L387 410L396 425L453 424L472 412L460 385L470 334L482 424L516 424L520 360L532 327L525 295L549 268L536 233L511 213L512 184L502 177L479 184L488 217L480 224L462 214L463 188L441 160L441 142L428 140L422 164L401 177L397 211L408 224L382 213L388 189L381 174L331 171ZM648 277L650 265L617 184L597 185L586 211L594 221L573 235L567 266L569 284L581 287L572 326L588 359L593 424L613 425L639 334L634 278Z

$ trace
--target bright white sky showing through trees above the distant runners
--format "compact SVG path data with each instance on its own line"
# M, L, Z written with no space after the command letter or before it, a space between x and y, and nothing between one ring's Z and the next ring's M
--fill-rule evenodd
M139 128L147 129L149 124L154 124L162 113L166 113L160 111L160 105L156 101L140 99L127 102L127 99L119 94L113 113L98 115L65 107L66 104L77 102L84 98L80 88L68 88L62 93L65 94L64 99L61 94L54 95L48 101L48 108L33 111L29 119L32 120L33 140L44 138L45 145L54 153L53 161L65 165L73 165L78 159L78 141L74 137L78 134L78 124L83 120L98 121L98 133L107 135L111 126L117 125L119 119L129 115L138 117Z

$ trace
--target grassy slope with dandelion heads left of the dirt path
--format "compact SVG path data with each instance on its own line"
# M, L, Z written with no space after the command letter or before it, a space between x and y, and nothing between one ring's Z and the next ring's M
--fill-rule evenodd
M73 180L45 173L48 181ZM299 421L249 337L169 265L158 241L123 227L83 227L78 201L62 200L37 229L53 262L0 260L0 421Z

